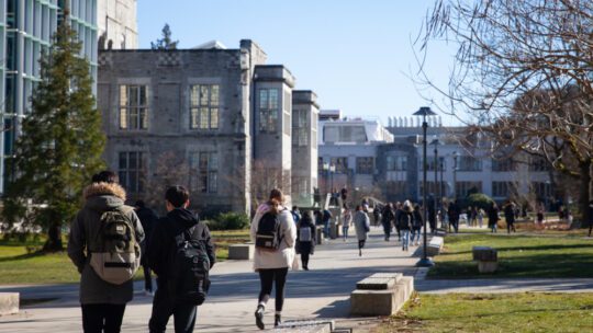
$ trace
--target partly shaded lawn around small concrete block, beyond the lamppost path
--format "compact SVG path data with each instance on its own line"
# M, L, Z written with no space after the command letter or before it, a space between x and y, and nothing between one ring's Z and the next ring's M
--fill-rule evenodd
M478 273L471 252L475 245L499 250L496 273ZM428 278L593 277L593 240L558 231L449 234L435 263Z

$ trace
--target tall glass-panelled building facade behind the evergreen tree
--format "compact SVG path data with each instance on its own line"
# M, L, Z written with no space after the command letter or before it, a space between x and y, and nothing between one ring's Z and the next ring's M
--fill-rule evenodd
M97 80L97 1L0 0L0 192L12 174L7 161L13 154L20 120L31 112L31 95L40 81L40 56L49 48L66 8L70 25L82 42L80 56L90 61L91 76Z

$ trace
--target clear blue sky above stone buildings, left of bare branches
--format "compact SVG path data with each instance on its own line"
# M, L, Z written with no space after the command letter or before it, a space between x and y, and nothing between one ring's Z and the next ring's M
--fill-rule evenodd
M139 0L139 47L169 23L179 48L216 39L237 48L257 42L268 64L282 64L296 89L313 90L322 108L347 116L411 115L430 105L410 78L417 69L413 41L430 0ZM450 51L432 50L430 78L446 83ZM438 100L430 91L425 97ZM445 124L452 119L443 118Z

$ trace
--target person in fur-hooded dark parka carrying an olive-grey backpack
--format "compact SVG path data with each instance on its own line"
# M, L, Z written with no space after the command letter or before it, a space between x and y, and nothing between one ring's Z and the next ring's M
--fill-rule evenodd
M120 332L133 298L144 230L134 209L124 205L125 191L115 173L93 175L83 196L68 237L68 256L80 273L82 330Z

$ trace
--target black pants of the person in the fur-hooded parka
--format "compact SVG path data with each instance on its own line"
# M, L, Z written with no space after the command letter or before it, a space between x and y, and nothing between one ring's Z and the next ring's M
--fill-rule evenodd
M119 333L125 305L81 305L85 333Z

